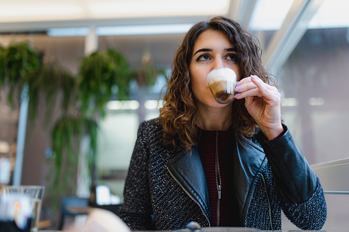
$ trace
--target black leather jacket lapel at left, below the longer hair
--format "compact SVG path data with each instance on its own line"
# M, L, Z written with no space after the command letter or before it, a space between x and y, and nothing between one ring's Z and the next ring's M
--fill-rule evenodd
M185 151L177 155L169 162L167 168L183 190L200 206L207 220L209 220L208 189L197 147L193 146L191 152Z

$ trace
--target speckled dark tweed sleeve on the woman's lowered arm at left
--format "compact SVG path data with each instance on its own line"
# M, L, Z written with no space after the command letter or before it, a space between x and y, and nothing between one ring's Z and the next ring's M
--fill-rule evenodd
M152 204L149 196L149 154L146 149L145 123L139 126L136 144L125 179L124 202L120 217L131 230L149 230L152 224Z

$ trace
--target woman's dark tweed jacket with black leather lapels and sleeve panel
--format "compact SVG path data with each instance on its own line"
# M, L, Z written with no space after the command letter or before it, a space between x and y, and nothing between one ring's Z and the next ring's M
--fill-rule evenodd
M191 220L210 227L200 155L196 147L183 152L158 142L162 128L158 119L140 126L121 218L137 230L181 229ZM285 133L272 141L265 141L261 132L249 143L232 141L237 143L232 166L241 226L281 229L282 209L301 229L321 229L326 203L320 182L287 127L284 129Z

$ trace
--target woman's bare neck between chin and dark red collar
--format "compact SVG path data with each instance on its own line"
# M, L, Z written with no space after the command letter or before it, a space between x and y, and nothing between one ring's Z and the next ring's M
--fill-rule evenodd
M213 108L198 105L199 109L199 127L207 131L227 131L232 124L231 114L232 105L226 107Z

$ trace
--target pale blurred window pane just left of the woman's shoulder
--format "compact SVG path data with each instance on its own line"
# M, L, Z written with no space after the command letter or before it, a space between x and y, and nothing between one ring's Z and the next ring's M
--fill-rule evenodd
M97 183L107 185L121 202L138 126L139 116L135 110L108 112L99 122Z

